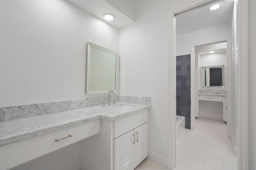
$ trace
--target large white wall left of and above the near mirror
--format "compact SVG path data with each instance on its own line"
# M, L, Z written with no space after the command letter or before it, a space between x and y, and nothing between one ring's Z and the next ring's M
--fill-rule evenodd
M85 98L86 43L119 31L64 0L1 0L0 107Z

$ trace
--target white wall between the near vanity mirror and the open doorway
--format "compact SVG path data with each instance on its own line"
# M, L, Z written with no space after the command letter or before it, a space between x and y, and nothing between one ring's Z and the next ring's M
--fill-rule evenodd
M170 114L168 39L172 30L168 26L169 12L191 2L137 1L136 22L120 30L120 94L151 97L148 158L163 166L167 166L167 117Z

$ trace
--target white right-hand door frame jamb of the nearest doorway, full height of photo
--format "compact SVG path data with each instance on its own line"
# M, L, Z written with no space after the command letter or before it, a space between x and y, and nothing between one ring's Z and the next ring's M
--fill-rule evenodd
M249 170L249 0L237 7L237 160L238 170Z

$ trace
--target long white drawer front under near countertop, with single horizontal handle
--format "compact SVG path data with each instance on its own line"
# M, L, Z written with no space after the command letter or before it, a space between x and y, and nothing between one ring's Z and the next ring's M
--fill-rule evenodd
M100 119L2 145L0 146L0 170L14 168L97 133L100 133ZM68 137L68 135L72 135L72 137ZM68 138L55 142L55 139L64 137Z

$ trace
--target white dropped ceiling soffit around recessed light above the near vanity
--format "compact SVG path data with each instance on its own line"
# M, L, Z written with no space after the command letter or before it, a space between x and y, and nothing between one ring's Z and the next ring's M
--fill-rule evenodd
M117 0L68 0L79 8L93 14L100 20L109 23L116 28L122 28L135 21L135 4L133 1ZM115 19L106 21L104 14L113 14Z

